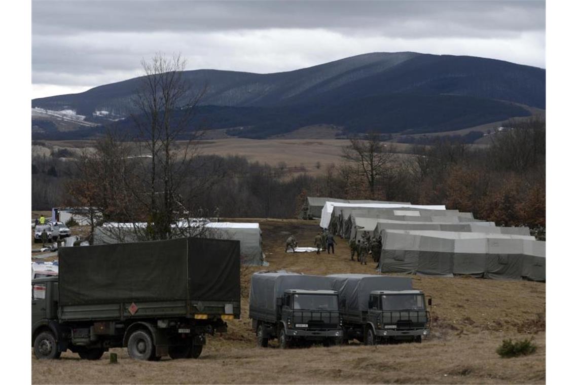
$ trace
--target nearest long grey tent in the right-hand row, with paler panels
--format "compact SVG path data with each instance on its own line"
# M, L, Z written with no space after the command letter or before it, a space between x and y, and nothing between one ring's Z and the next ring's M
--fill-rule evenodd
M430 230L381 234L381 272L546 279L545 244L533 237Z

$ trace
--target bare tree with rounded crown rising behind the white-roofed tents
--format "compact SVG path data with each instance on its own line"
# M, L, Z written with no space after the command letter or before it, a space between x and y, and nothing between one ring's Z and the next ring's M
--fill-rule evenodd
M394 154L388 151L381 136L376 132L365 134L362 139L351 137L350 144L343 148L343 158L354 163L361 170L373 198L376 194L377 179L394 160Z

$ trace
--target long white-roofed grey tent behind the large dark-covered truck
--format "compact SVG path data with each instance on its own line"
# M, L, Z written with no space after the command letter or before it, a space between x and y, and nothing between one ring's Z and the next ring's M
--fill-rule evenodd
M251 266L263 264L261 229L258 223L234 222L183 222L180 227L194 223L192 233L203 238L240 241L241 263ZM95 229L94 244L114 244L118 242L136 242L134 227L141 230L146 223L105 223Z

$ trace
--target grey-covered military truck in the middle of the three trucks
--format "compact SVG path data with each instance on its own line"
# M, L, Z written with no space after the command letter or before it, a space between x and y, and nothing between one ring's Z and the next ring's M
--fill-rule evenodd
M337 291L324 276L290 272L258 272L251 277L249 318L257 345L325 346L339 343L342 325Z

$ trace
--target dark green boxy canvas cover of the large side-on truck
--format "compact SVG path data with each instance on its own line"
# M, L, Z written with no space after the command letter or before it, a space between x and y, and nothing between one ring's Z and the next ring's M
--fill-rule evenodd
M58 250L61 305L239 301L239 241L180 238Z

